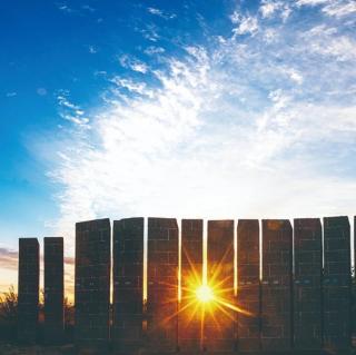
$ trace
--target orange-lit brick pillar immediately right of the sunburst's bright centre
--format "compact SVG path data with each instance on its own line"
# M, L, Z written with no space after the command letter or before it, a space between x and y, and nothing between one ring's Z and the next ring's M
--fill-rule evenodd
M234 220L208 221L208 284L218 285L215 289L218 299L235 304ZM212 314L205 314L205 347L209 353L231 352L235 348L236 314L217 300L212 308Z

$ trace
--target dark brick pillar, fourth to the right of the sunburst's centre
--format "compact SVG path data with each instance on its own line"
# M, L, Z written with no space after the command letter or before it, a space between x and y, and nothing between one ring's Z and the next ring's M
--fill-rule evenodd
M322 347L322 224L294 220L294 342L296 349Z

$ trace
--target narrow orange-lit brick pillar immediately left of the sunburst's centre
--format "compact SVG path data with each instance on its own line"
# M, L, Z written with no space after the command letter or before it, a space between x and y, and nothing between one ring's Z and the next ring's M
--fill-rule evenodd
M181 302L179 348L197 353L201 346L201 308L196 289L202 283L202 219L181 220Z

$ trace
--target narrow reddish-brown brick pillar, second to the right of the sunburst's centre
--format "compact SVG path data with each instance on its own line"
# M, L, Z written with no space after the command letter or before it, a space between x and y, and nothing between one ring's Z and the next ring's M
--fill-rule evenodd
M257 219L239 219L237 226L237 306L238 349L256 352L260 347L259 299L259 223ZM249 314L244 314L247 310Z

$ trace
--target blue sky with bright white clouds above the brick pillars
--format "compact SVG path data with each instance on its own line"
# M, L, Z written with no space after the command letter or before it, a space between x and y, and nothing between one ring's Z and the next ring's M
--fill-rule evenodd
M356 214L356 2L0 2L0 290L19 237Z

